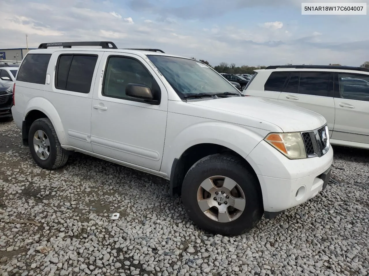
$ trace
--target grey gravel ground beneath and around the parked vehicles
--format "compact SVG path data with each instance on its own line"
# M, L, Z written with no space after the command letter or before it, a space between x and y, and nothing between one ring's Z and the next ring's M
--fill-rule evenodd
M369 151L334 148L324 192L228 238L161 178L82 154L42 170L20 138L0 123L0 275L368 275Z

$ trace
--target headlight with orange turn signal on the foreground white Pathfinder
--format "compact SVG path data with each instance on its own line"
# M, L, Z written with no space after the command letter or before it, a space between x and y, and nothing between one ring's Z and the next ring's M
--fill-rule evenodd
M270 133L264 140L290 159L306 158L304 140L300 132Z

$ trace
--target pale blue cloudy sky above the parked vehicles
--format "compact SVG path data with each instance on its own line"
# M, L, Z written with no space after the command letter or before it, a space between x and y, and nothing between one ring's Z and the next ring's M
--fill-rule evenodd
M0 0L0 49L112 41L236 66L369 60L368 15L301 15L301 2L369 0Z

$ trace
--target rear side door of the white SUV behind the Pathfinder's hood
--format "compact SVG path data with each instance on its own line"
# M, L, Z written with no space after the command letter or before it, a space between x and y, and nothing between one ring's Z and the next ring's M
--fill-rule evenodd
M335 118L332 72L291 72L278 102L289 103L321 114L332 135Z

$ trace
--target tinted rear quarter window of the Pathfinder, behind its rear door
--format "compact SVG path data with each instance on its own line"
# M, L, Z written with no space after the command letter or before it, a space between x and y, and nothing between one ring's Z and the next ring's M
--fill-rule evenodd
M19 68L17 81L45 84L51 54L27 54Z

